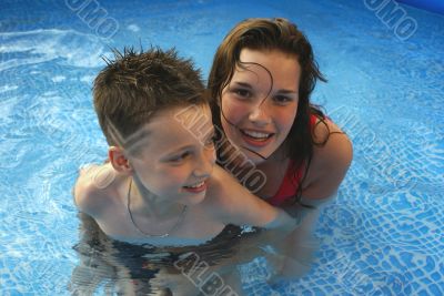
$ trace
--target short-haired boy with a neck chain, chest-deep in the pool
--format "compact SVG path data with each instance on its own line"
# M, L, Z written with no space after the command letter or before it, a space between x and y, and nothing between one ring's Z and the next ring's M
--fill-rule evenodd
M214 165L210 108L189 60L174 50L114 54L93 86L109 163L80 173L81 212L110 237L157 246L199 245L228 224L294 228Z

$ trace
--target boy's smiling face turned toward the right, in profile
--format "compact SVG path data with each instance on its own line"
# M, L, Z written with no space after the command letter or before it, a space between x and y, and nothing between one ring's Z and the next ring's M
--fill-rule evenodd
M131 136L137 141L128 160L151 194L165 202L196 204L205 196L215 162L213 135L208 105L162 110Z

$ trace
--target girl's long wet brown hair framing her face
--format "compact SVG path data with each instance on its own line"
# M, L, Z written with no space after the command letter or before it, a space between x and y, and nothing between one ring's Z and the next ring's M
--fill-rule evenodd
M313 57L312 45L306 37L294 23L286 19L248 19L238 23L224 38L214 55L208 88L211 94L213 122L222 131L221 99L223 89L230 84L236 67L242 68L240 54L242 49L251 50L279 50L293 55L301 67L301 81L299 86L297 113L283 145L286 155L293 161L293 174L304 170L303 177L299 178L297 192L294 202L301 204L302 183L309 171L313 157L314 146L323 146L329 136L316 142L311 116L316 116L316 124L325 123L325 115L317 105L310 103L310 95L317 80L326 82L319 70ZM297 180L295 177L295 180Z

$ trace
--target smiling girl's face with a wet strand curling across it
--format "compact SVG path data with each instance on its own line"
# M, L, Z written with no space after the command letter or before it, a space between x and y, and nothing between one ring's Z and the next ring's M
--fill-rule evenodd
M222 90L222 127L254 163L273 154L289 135L297 112L301 67L279 50L243 49L241 67Z

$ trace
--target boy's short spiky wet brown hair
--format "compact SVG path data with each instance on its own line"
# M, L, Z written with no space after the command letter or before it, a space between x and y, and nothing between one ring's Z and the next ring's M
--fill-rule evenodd
M160 110L206 103L200 70L174 49L113 53L113 60L104 58L107 67L93 84L94 109L109 145L122 145L115 134L128 139Z

